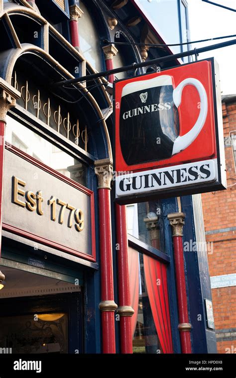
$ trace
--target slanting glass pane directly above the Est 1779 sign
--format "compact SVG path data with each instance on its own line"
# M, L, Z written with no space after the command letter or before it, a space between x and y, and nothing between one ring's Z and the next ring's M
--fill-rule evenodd
M84 164L8 115L5 141L62 175L87 186L87 169Z

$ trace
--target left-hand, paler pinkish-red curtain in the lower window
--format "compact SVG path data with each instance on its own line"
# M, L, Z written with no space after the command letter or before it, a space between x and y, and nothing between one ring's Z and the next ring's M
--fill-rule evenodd
M128 248L128 274L130 286L130 301L134 314L131 317L132 336L134 335L137 315L138 315L138 296L139 296L139 254L135 249Z

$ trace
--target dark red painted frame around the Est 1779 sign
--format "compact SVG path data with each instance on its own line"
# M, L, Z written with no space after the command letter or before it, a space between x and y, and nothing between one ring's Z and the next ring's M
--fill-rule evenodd
M29 163L33 164L34 166L40 168L41 170L49 173L50 175L56 177L57 179L63 181L64 183L70 185L71 187L74 187L75 189L78 189L78 190L82 191L83 193L90 196L92 255L88 255L88 254L85 254L83 252L76 251L72 248L66 247L65 245L59 244L59 243L52 241L52 240L42 238L41 236L32 234L32 233L30 233L26 230L22 230L20 228L11 226L11 225L6 224L6 223L2 223L2 229L9 231L13 234L22 236L26 239L30 239L30 240L33 240L35 242L47 245L48 247L58 249L60 251L63 251L63 252L78 256L78 257L82 257L86 260L95 262L96 261L96 238L95 238L94 192L90 189L83 187L81 184L78 184L75 181L69 179L68 177L63 176L59 172L48 167L47 165L43 164L42 162L39 162L38 160L36 160L32 156L29 156L28 154L26 154L25 152L20 151L18 148L10 145L9 143L5 144L5 148L7 150L11 151L12 153L14 153L15 155L21 157L22 159L26 160L27 162L29 162Z

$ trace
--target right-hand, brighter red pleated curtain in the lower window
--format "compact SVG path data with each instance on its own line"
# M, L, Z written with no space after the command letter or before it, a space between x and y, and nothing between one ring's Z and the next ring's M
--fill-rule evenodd
M163 353L173 353L166 266L143 255L147 294Z

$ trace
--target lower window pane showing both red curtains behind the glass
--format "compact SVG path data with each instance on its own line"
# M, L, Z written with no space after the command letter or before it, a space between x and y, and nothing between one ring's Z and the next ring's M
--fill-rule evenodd
M128 248L133 353L173 353L167 268Z

